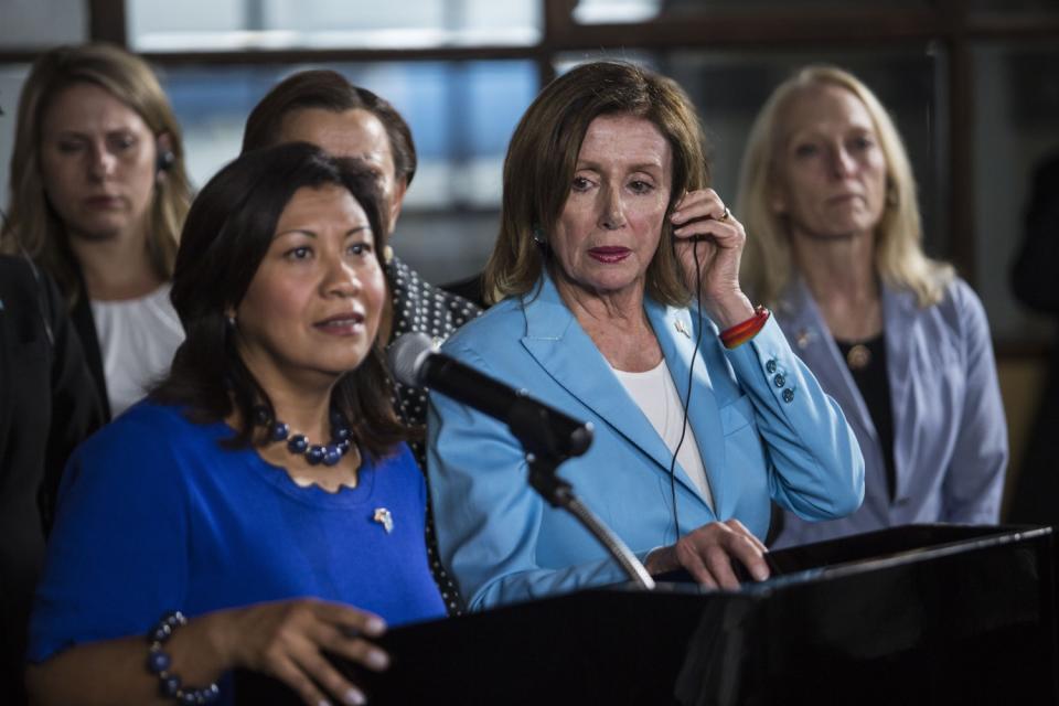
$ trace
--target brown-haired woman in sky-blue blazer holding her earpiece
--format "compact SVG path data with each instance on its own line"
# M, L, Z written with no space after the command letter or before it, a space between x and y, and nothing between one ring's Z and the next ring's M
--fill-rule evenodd
M674 82L610 62L557 78L509 148L485 270L499 303L445 351L592 422L559 474L651 573L732 588L732 558L768 576L770 498L806 520L846 515L863 459L742 293L746 234L707 182ZM531 489L505 425L431 395L428 429L439 547L472 609L623 579Z

